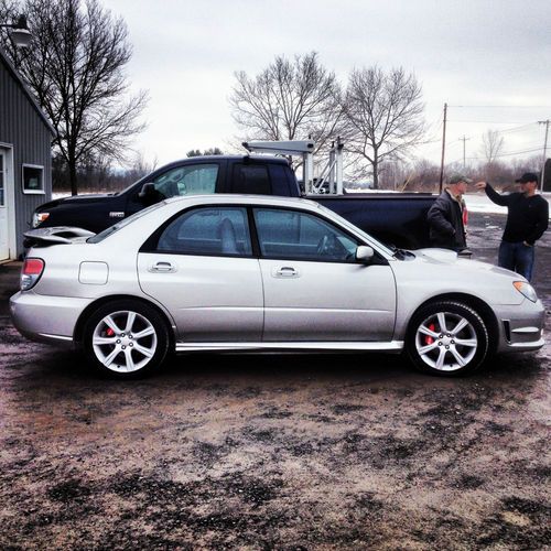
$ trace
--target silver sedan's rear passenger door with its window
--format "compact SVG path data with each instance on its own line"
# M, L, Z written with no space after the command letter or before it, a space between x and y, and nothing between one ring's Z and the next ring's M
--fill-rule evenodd
M262 280L246 208L188 209L149 241L140 285L171 312L180 341L261 341Z

